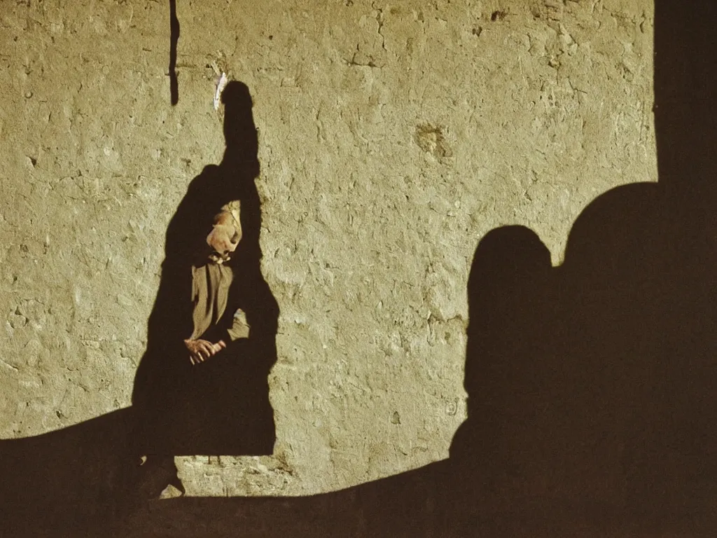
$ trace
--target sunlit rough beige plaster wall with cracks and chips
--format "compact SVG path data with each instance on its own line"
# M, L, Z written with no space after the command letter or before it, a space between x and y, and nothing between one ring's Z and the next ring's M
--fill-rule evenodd
M597 194L656 179L649 0L0 1L0 438L130 404L163 234L222 158L214 68L260 130L281 308L270 458L194 494L305 494L447 457L465 286L518 223L559 263Z

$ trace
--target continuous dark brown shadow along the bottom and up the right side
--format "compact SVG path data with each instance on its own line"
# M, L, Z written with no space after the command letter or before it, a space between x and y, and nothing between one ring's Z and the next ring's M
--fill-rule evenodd
M476 238L469 414L450 459L303 498L128 504L117 456L127 445L125 411L2 441L4 528L74 536L94 525L137 537L713 536L717 6L657 0L655 19L660 181L589 204L558 268L525 227ZM174 230L168 259L170 245L183 244Z

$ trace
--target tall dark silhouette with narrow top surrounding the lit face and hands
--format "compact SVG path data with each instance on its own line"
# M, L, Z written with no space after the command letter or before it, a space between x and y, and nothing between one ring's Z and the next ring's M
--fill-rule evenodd
M279 308L260 267L258 138L252 99L246 85L229 82L222 102L224 159L219 166L206 166L191 181L169 223L147 349L135 378L136 453L163 456L165 461L181 455L270 454L275 441L267 375L276 361ZM185 340L200 336L190 336L201 308L196 271L212 265L207 258L212 255L208 234L228 204L239 208L240 240L229 259L219 262L229 270L228 287L211 279L206 285L206 293L214 293L222 308L215 305L215 312L206 314L212 320L201 335L214 344L222 339L227 346L192 364ZM214 289L222 285L224 292ZM227 328L241 312L249 335L232 341Z

